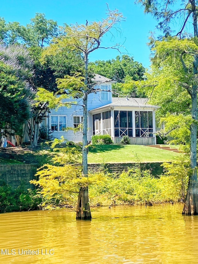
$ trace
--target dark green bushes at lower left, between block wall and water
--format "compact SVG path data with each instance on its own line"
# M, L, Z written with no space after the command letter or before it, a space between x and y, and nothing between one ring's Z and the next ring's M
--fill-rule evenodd
M36 190L24 190L18 187L13 190L5 182L0 183L0 212L34 210L41 202Z

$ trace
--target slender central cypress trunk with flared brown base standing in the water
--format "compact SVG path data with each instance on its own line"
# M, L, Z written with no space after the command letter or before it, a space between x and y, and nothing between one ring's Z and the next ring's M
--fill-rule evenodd
M85 63L85 80L84 84L87 87L88 83L88 54L84 54L84 63ZM88 168L87 168L87 88L84 91L83 98L83 149L82 149L82 176L88 177ZM77 208L76 208L76 219L89 220L91 219L91 211L89 207L89 198L88 198L88 187L80 187L80 192L78 196Z

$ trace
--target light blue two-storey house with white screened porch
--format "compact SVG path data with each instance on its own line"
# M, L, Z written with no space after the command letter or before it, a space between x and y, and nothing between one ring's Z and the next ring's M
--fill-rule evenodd
M88 94L88 141L93 135L109 134L118 144L124 135L130 137L131 144L156 144L155 110L159 106L148 104L147 98L112 97L111 85L115 81L99 74L95 75L94 82L100 91ZM66 127L76 128L82 123L82 99L66 101L73 103L71 108L51 110L45 125L55 138L64 136L69 141L82 141L81 131L64 131Z

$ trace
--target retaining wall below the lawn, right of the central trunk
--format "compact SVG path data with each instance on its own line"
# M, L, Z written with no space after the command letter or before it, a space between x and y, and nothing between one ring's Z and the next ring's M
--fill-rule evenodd
M109 172L115 172L121 174L123 170L128 171L129 168L134 166L139 166L141 170L150 170L152 175L160 175L163 173L163 167L161 166L163 162L145 162L145 163L91 163L88 164L88 171L97 172L98 170L105 168Z

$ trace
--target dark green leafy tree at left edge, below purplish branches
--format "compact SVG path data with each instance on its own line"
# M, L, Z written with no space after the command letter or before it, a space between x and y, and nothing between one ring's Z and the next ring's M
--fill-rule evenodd
M23 81L13 74L11 67L0 61L0 134L22 134L25 120L29 117L27 89Z

